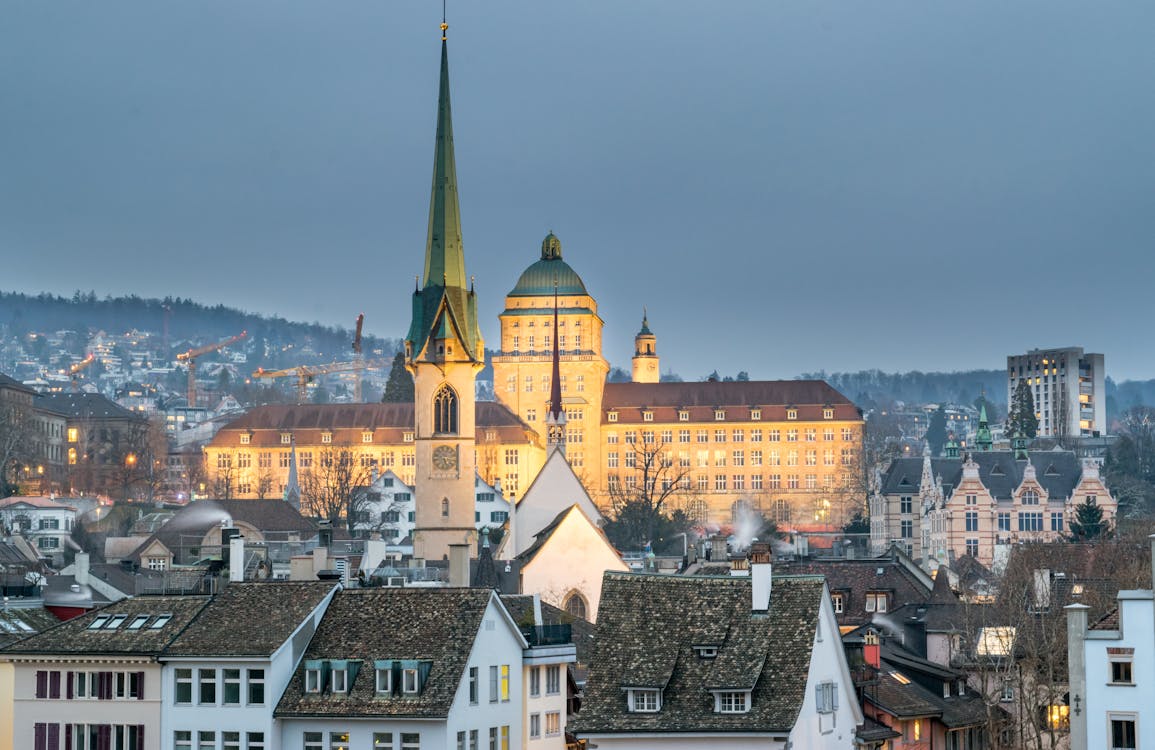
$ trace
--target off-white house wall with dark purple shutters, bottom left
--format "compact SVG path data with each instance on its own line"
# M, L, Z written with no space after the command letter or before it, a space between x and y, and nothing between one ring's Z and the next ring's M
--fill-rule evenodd
M38 669L68 671L143 671L144 698L112 700L68 700L60 698L36 698L36 673ZM59 723L60 742L64 744L65 723L144 725L144 750L161 748L161 666L154 662L85 661L80 662L29 662L15 666L15 698L13 700L13 744L15 748L36 747L33 727L37 723ZM60 676L60 695L68 695Z

